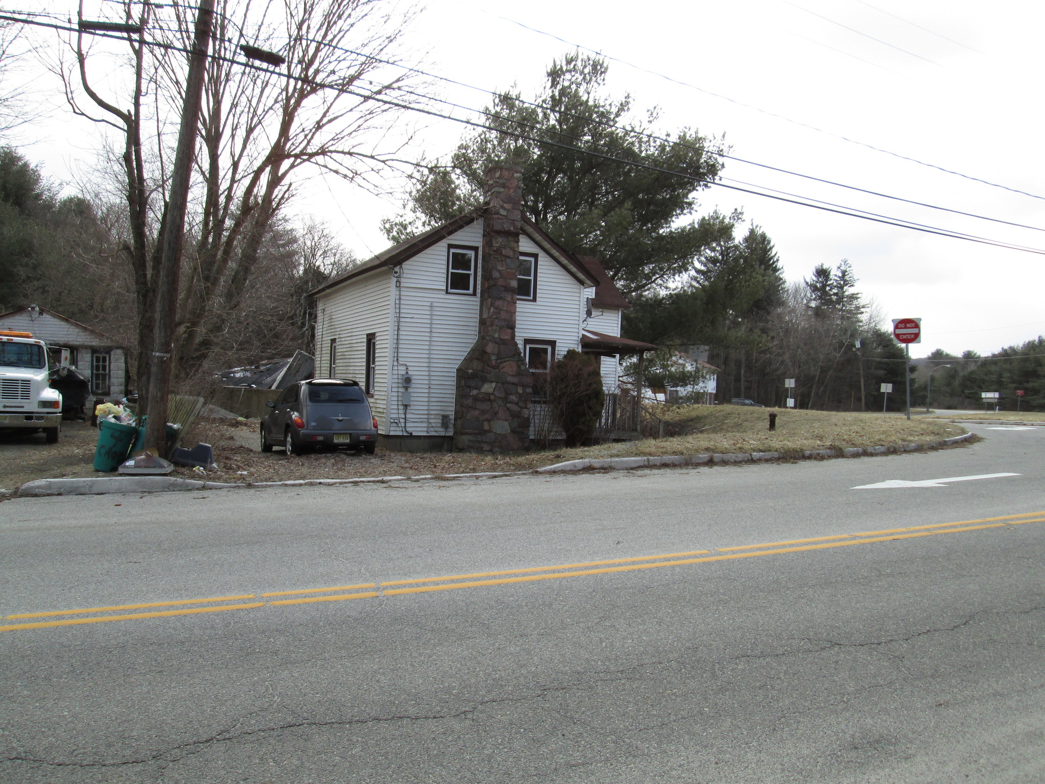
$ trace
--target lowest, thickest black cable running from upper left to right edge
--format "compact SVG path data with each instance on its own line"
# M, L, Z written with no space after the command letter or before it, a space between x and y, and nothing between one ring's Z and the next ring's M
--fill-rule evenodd
M113 40L117 40L117 41L122 41L122 42L126 41L126 38L123 37L123 36L113 36L113 34L108 34L108 33L104 33L104 32L78 30L77 28L69 27L69 26L65 26L65 25L49 24L49 23L44 23L44 22L34 22L34 21L25 20L25 19L19 19L19 18L16 18L16 17L8 17L8 16L4 16L4 15L0 15L0 19L4 19L4 20L7 20L7 21L13 21L13 22L20 22L20 23L23 23L23 24L30 24L30 25L37 25L37 26L42 26L42 27L48 27L48 28L56 29L56 30L65 30L65 31L69 31L69 32L78 32L78 33L84 33L84 34L91 34L91 36L95 36L95 37L98 37L98 38L109 38L109 39L113 39ZM179 51L179 52L184 52L184 53L188 53L189 52L188 49L186 49L184 47L180 47L180 46L175 46L172 44L165 44L165 43L158 42L158 41L146 40L144 38L139 39L139 40L142 43L144 43L145 45L147 45L147 46L156 46L158 48L166 49L168 51ZM673 170L673 169L665 168L663 166L656 166L656 165L653 165L653 164L642 163L641 161L630 161L630 160L627 160L625 158L619 158L617 156L611 156L611 155L608 155L608 154L605 154L605 153L599 153L597 151L582 149L580 147L575 147L575 146L570 145L570 144L563 144L561 142L552 141L550 139L539 139L539 138L532 137L532 136L527 136L525 134L513 133L513 132L510 132L510 131L506 131L504 129L497 129L497 128L493 128L492 125L486 125L486 124L481 123L481 122L475 122L473 120L468 120L468 119L464 119L464 118L460 118L460 117L454 117L451 115L441 114L439 112L435 112L435 111L432 111L432 110L428 110L428 109L423 109L421 107L413 107L413 106L410 106L410 105L407 105L407 103L400 103L400 102L397 102L397 101L394 101L394 100L390 100L388 98L379 97L379 96L374 95L374 94L369 94L368 95L368 94L365 94L365 93L359 93L359 92L350 90L348 88L339 87L338 85L330 85L330 84L319 82L317 79L305 78L303 76L295 76L294 74L289 74L289 73L282 73L280 71L272 70L271 68L263 68L261 66L254 65L253 63L247 63L247 62L243 62L243 61L234 60L232 57L226 57L226 56L218 55L218 54L213 54L213 53L209 54L208 56L211 57L212 60L217 60L217 61L220 61L220 62L224 62L224 63L229 63L231 65L238 65L238 66L241 66L243 68L255 70L255 71L258 71L258 72L261 72L261 73L268 73L270 75L279 76L281 78L286 78L286 79L289 79L289 80L298 82L298 83L309 85L309 86L312 86L312 87L318 87L318 88L321 88L321 89L334 90L336 92L341 92L341 93L344 93L346 95L352 95L353 97L363 98L364 100L373 100L375 102L385 103L387 106L391 106L391 107L394 107L394 108L397 108L397 109L402 109L404 111L417 112L417 113L420 113L420 114L425 114L425 115L428 115L428 116L432 116L432 117L437 117L437 118L440 118L440 119L451 120L454 122L459 122L459 123L462 123L462 124L471 125L472 128L479 128L479 129L483 129L483 130L486 130L486 131L493 131L494 133L505 134L506 136L511 136L511 137L514 137L514 138L517 138L517 139L522 139L522 140L526 140L526 141L532 141L534 143L537 143L537 144L549 144L549 145L552 145L552 146L560 147L560 148L563 148L563 149L568 149L568 151L572 151L572 152L575 152L575 153L579 153L579 154L582 154L582 155L588 155L588 156L593 156L593 157L596 157L596 158L601 158L603 160L613 161L613 162L617 162L617 163L623 163L623 164L626 164L626 165L635 166L635 167L638 167L638 168L644 168L644 169L653 170L653 171L658 171L660 174L671 175L671 176L674 176L674 177L681 177L683 179L688 179L688 180L691 180L691 181L694 181L694 182L703 183L703 184L707 184L707 185L715 185L715 186L718 186L718 187L727 188L729 190L736 190L736 191L740 191L740 192L744 192L744 193L750 193L751 195L759 195L759 197L762 197L764 199L772 199L774 201L785 202L785 203L788 203L788 204L794 204L794 205L802 206L802 207L809 207L811 209L817 209L817 210L821 210L821 211L825 211L825 212L832 212L832 213L835 213L835 214L847 215L850 217L858 217L858 218L863 220L863 221L870 221L873 223L884 224L884 225L887 225L887 226L896 226L896 227L903 228L903 229L910 229L912 231L921 231L921 232L927 233L927 234L935 234L937 236L951 237L952 239L963 239L966 241L977 243L979 245L989 245L989 246L993 246L993 247L996 247L996 248L1006 248L1008 250L1020 250L1020 251L1024 251L1024 252L1027 252L1027 253L1035 253L1035 254L1038 254L1038 255L1045 255L1045 250L1041 250L1041 249L1022 248L1022 247L1019 247L1019 246L1015 246L1015 245L1012 245L1012 244L1002 243L1002 241L998 241L998 240L993 240L993 239L988 239L988 238L982 238L982 237L966 236L966 235L957 234L955 232L952 232L952 231L949 231L949 230L946 230L946 229L939 229L939 228L936 228L936 227L924 228L924 227L919 227L919 226L914 226L914 225L907 224L907 223L898 223L898 222L896 222L893 220L887 220L887 218L881 218L881 217L873 217L873 216L869 216L869 215L864 215L864 214L859 214L857 212L852 212L852 211L850 211L850 208L842 207L840 205L835 205L833 207L821 206L819 204L811 204L809 202L800 201L799 200L800 198L788 199L788 198L785 198L785 197L782 197L782 195L771 195L769 193L763 193L763 192L759 192L759 191L756 191L756 190L750 190L748 188L738 187L736 185L727 185L727 184L722 183L722 182L715 182L715 181L702 180L702 179L700 179L698 177L695 177L693 175L688 175L688 174L686 174L683 171L676 171L676 170Z

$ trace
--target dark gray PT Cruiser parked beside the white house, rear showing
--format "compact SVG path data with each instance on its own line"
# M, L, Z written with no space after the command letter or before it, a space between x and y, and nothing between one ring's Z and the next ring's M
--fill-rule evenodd
M377 417L350 378L296 382L265 405L272 411L261 419L261 452L282 446L287 455L300 455L329 446L373 455L377 446Z

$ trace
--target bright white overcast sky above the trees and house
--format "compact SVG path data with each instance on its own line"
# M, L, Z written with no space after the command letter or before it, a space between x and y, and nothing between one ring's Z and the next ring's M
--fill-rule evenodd
M48 5L74 15L72 2ZM1045 229L1045 199L897 157L1045 197L1043 23L1045 8L1030 2L431 0L407 31L405 50L439 75L485 89L517 84L524 95L532 95L548 64L571 50L555 36L637 66L611 62L608 92L631 93L641 110L658 106L663 131L689 125L724 136L733 155L750 161ZM486 100L465 88L440 85L438 90L441 97L467 106ZM49 119L18 141L49 175L73 180L93 157L98 132L72 121L60 102L54 106ZM462 134L461 125L448 121L415 121L422 130L415 152L428 157L450 152ZM1042 230L916 207L734 161L723 177L732 184L742 181L1045 249ZM375 199L318 179L295 204L299 213L326 222L364 257L387 245L378 223L398 208L394 198ZM923 343L912 347L916 355L937 347L985 353L1045 333L1043 255L718 187L700 197L701 212L714 208L740 208L762 226L776 244L789 279L807 277L818 263L850 259L860 290L877 303L885 325L890 318L923 319Z

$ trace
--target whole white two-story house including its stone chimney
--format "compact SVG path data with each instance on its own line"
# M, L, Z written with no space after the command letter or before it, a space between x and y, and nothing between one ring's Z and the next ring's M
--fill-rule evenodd
M483 208L311 292L316 374L358 381L393 447L446 448L456 438L459 447L487 448L468 441L474 431L472 440L485 433L487 442L497 441L493 451L515 448L506 429L531 435L531 373L547 371L570 349L585 350L601 354L603 382L613 393L618 355L654 348L620 338L628 303L602 267L564 251L521 214L517 171L495 174L501 179L491 180ZM467 360L482 350L486 360ZM482 383L463 381L469 373ZM526 387L525 400L513 397L516 386L519 394ZM493 397L474 402L477 394ZM475 417L487 416L503 421L480 426Z

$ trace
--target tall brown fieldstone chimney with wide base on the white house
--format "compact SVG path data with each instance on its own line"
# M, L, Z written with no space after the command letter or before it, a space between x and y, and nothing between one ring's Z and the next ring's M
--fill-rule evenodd
M454 446L517 452L530 446L533 381L515 340L521 171L490 166L486 174L479 337L457 370Z

